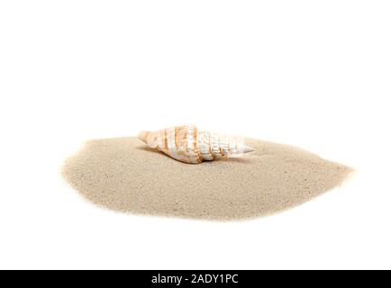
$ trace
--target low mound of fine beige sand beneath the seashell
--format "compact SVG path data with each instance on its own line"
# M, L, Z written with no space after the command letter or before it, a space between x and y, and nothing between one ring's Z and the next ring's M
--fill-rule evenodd
M299 148L247 139L254 152L198 165L135 138L97 139L63 175L87 200L115 211L235 220L282 211L335 187L350 168Z

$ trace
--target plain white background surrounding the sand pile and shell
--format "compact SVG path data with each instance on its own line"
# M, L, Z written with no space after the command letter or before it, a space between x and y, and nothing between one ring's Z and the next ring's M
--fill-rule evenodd
M391 268L389 1L2 1L0 268ZM353 166L268 218L126 215L59 175L182 123Z

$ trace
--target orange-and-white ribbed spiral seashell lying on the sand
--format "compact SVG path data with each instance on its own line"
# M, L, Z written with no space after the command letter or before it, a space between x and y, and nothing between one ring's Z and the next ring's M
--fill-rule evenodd
M185 163L197 164L220 157L253 151L242 139L224 136L193 125L178 126L155 132L142 131L138 135L150 148Z

